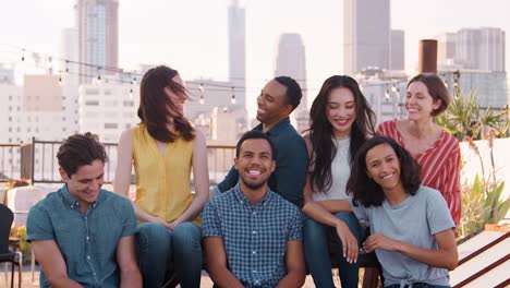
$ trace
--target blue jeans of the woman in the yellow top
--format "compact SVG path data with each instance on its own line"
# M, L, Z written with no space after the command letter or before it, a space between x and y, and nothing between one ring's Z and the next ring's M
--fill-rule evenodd
M142 223L137 229L136 251L144 287L161 287L168 269L175 272L181 287L201 286L202 230L198 226L183 223L170 232L162 225Z

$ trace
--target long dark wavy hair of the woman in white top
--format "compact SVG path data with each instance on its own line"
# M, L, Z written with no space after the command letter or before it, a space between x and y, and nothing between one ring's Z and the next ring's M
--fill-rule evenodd
M329 94L332 89L344 87L354 96L356 119L351 129L350 160L354 160L360 146L374 134L375 113L360 91L357 82L350 76L333 75L327 79L309 110L309 140L313 146L312 191L327 191L331 188L331 163L337 155L332 140L333 129L327 118ZM316 191L317 190L317 191Z

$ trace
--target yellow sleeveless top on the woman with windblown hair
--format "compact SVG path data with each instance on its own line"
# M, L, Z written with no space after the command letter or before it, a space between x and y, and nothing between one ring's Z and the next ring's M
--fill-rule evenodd
M145 124L133 128L132 135L135 203L148 214L171 223L193 202L190 183L193 141L179 137L168 143L161 155ZM193 223L199 225L199 217Z

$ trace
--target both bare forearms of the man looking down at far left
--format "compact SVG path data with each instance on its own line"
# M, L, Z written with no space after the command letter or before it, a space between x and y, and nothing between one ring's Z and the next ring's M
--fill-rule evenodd
M51 287L83 287L77 281L69 278L65 261L54 240L34 240L32 241L32 249L34 249L35 257ZM136 262L134 236L123 237L119 240L117 261L120 267L120 287L142 287L142 275Z

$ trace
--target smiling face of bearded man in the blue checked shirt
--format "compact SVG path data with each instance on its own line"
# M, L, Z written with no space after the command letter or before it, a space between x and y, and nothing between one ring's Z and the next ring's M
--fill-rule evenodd
M235 169L241 178L241 185L257 190L267 185L267 180L275 171L271 146L265 139L246 139L235 158Z

